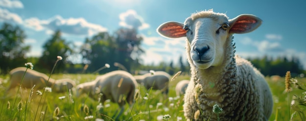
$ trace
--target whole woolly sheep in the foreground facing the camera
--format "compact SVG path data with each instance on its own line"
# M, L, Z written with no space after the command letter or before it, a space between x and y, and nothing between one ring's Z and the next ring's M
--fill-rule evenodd
M259 70L235 56L233 34L249 33L262 20L253 15L228 19L213 10L201 11L184 23L166 22L157 32L169 38L187 37L186 52L191 81L184 96L187 120L217 120L213 105L223 109L221 121L267 121L273 108L272 94ZM246 109L244 109L246 108ZM195 116L195 112L200 114Z

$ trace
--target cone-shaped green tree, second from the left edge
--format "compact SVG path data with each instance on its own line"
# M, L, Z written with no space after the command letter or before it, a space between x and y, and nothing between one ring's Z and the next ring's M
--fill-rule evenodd
M70 42L66 42L65 39L61 37L61 31L56 31L52 37L46 41L43 45L43 54L39 59L39 66L43 67L42 71L51 72L57 56L62 56L63 60L59 61L55 69L55 73L62 72L66 67L67 62L66 57L72 54L73 46Z

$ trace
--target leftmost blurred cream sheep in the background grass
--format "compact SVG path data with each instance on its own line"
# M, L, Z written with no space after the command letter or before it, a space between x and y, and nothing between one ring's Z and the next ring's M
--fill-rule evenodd
M16 86L20 85L20 82L22 80L22 76L25 72L26 68L25 67L18 67L15 69L12 69L9 74L11 76L10 78L10 86L7 88L7 90L10 90L12 88L15 88ZM38 89L43 89L47 80L48 76L44 73L32 70L32 69L27 69L25 76L22 81L22 87L25 88L32 88L35 85L35 88ZM49 82L47 83L48 87L53 86L54 84L54 79L50 78Z

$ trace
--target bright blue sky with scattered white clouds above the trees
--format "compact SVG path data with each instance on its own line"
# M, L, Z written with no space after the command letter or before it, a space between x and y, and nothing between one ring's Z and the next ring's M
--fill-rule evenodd
M138 27L144 38L144 64L174 60L185 55L185 38L167 39L156 28L167 21L184 22L192 13L214 9L229 18L253 14L262 25L234 35L242 57L298 56L306 69L306 1L287 0L0 0L0 23L22 27L31 45L27 56L40 56L44 42L60 29L67 41L81 46L98 32L113 34L120 27ZM78 60L76 58L71 58Z

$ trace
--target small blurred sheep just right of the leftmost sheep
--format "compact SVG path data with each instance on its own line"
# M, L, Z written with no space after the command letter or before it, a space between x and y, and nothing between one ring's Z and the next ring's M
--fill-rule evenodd
M54 84L54 91L55 92L67 92L69 91L69 89L72 89L72 87L75 87L76 83L69 79L59 79L59 80L55 80L55 84Z

